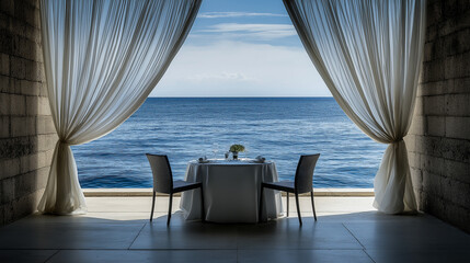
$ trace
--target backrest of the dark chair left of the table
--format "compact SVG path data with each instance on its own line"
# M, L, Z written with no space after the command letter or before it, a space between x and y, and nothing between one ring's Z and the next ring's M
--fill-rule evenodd
M150 168L153 174L153 191L159 193L171 193L173 190L173 174L171 173L170 161L163 155L147 153Z

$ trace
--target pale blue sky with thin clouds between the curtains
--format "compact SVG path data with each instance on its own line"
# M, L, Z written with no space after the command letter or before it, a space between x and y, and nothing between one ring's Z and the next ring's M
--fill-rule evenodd
M150 96L331 96L282 0L204 0Z

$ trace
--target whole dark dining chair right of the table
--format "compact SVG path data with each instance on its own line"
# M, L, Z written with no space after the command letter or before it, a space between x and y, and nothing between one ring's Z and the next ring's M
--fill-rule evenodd
M319 158L320 158L320 153L300 156L299 163L297 164L297 171L296 171L296 176L294 182L280 181L280 182L272 182L272 183L267 183L267 182L261 183L260 210L259 210L260 220L261 220L261 214L263 208L263 190L272 188L272 190L284 191L287 193L287 216L289 216L289 193L294 193L296 195L297 215L299 217L300 225L302 225L302 218L300 217L299 194L310 192L313 216L314 216L314 220L317 221L317 213L314 210L314 203L313 203L313 170Z

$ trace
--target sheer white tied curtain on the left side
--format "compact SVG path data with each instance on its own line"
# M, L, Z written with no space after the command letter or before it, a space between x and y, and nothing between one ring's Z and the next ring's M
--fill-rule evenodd
M71 145L126 121L165 72L200 0L42 0L44 67L59 140L38 210L84 213Z

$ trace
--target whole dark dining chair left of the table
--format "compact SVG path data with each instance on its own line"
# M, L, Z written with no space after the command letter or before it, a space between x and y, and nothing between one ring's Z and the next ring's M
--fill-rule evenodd
M173 194L188 191L188 190L195 190L199 187L200 187L200 204L202 204L200 218L204 221L203 183L187 183L184 181L173 181L173 174L171 172L170 162L167 156L150 155L150 153L147 153L146 156L147 156L147 159L149 159L150 168L152 169L152 174L153 174L153 198L152 198L152 210L150 213L150 221L153 218L153 208L156 205L157 193L164 193L170 195L170 206L168 209L168 220L167 220L167 225L170 225Z

